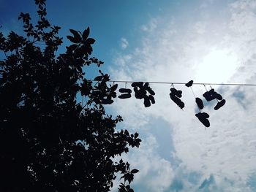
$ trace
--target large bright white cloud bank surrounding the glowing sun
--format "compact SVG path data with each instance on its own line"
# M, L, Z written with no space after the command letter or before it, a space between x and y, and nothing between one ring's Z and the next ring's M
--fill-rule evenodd
M256 3L236 1L222 9L228 14L221 18L221 23L211 20L217 15L210 15L208 23L201 24L202 21L195 19L178 28L178 23L172 21L166 23L165 28L144 30L148 34L142 45L129 55L119 55L111 76L116 80L255 83ZM124 126L147 133L145 146L128 157L141 170L135 183L150 185L148 191L156 191L161 186L159 191L163 191L171 186L178 169L182 169L186 174L197 172L200 175L197 183L192 184L182 176L185 173L182 174L183 191L198 191L210 175L214 176L212 185L219 191L220 188L224 188L223 191L252 191L247 183L256 172L256 88L214 86L227 104L218 111L211 105L205 107L211 122L211 127L205 131L195 117L195 99L189 88L176 85L183 91L186 107L182 111L170 101L170 85L152 84L151 87L156 92L156 104L152 107L144 108L143 101L135 99L118 100L113 105L124 117ZM193 90L200 97L205 91L203 86L197 85ZM167 161L157 153L155 145L159 140L151 134L157 127L150 126L151 119L156 117L171 125L170 140L174 149L170 153L176 162ZM155 174L161 172L167 176ZM153 174L155 181L151 183Z

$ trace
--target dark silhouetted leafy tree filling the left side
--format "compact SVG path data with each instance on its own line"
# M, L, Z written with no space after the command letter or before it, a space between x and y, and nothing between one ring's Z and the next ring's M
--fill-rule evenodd
M70 29L71 43L62 43L59 26L45 18L45 0L35 0L38 21L20 13L23 36L0 32L0 191L133 191L138 169L114 158L139 147L138 133L116 129L121 116L107 115L117 85L101 71L97 82L86 79L86 66L102 61L90 57L95 40ZM86 98L82 106L78 96Z

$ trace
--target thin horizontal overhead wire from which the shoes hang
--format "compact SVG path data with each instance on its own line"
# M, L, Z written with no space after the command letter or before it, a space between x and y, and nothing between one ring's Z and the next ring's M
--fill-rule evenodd
M138 81L125 81L125 80L109 80L108 82L138 82ZM157 81L141 81L151 84L169 84L169 85L185 85L187 82L157 82ZM214 82L193 82L193 85L226 85L226 86L256 86L256 84L247 83L214 83Z

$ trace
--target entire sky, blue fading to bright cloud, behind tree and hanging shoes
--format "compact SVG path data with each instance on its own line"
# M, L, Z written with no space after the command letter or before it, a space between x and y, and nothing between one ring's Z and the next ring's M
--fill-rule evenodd
M90 36L96 39L93 54L105 61L102 69L112 80L256 83L256 1L47 4L48 18L62 27L62 37L69 28L91 28ZM29 0L0 0L1 31L19 31L18 13L35 10ZM97 74L97 68L88 74ZM215 101L204 101L209 128L195 117L195 97L189 88L174 85L183 91L181 110L170 100L170 85L150 86L156 93L151 107L145 108L134 96L116 99L108 107L124 118L119 128L137 131L143 140L139 149L122 156L140 170L132 183L135 191L256 191L255 86L212 85L227 102L215 111ZM203 85L192 88L203 99Z

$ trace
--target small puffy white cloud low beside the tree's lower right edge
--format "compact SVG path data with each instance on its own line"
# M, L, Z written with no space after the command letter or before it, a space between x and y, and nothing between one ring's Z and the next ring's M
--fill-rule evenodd
M140 170L133 185L137 185L143 191L165 191L170 185L170 180L173 180L170 162L160 158L156 149L155 137L149 136L143 140L140 150L136 150L129 157L129 163Z

